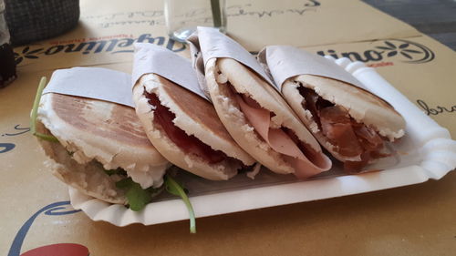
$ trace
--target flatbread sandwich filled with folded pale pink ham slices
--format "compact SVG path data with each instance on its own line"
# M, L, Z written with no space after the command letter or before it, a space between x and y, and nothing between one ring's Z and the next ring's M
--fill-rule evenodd
M202 87L211 97L224 127L241 148L268 169L292 173L299 179L331 168L330 159L285 100L265 77L252 69L255 64L259 66L254 56L214 30L199 27L198 37L199 41L192 43L196 51L201 46L201 52L193 56L201 55L205 62L205 67L200 67L205 74ZM228 48L226 53L204 56L212 55L223 45ZM252 68L224 57L230 52L250 62Z

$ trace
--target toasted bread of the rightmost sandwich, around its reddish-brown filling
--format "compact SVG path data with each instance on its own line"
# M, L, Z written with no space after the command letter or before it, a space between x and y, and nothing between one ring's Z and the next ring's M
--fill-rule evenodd
M362 88L335 79L314 75L300 75L287 79L282 86L282 93L286 101L295 110L295 113L306 127L312 131L322 146L336 159L342 161L359 160L359 157L347 158L341 156L337 153L335 146L328 142L327 138L318 129L310 111L303 108L305 98L299 94L297 89L301 85L314 90L316 94L327 101L347 109L348 114L357 122L374 128L378 134L389 138L390 141L404 135L404 118L388 102Z

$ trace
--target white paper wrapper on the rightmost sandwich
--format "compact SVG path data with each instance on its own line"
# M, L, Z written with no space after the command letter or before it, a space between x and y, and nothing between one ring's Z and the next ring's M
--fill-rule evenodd
M334 61L294 46L266 46L258 54L258 60L271 73L279 90L282 90L286 79L298 75L330 77L365 88L357 78L337 66Z

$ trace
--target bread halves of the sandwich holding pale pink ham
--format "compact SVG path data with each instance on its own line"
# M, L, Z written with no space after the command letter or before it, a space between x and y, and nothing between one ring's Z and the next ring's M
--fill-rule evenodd
M275 117L272 118L273 124L276 127L283 126L291 129L297 138L321 154L327 163L327 169L329 169L330 160L323 155L316 139L303 126L293 110L288 107L285 100L273 87L270 87L253 71L231 58L218 58L216 60L212 58L205 67L208 91L223 125L241 148L244 148L254 159L268 169L281 174L295 172L295 169L283 159L281 154L275 152L254 131L234 100L233 91L226 84L217 81L219 72L226 77L236 92L252 97L261 107L275 113Z

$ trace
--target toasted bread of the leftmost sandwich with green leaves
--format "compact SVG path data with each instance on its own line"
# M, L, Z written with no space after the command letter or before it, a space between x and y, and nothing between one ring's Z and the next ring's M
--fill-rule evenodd
M57 177L68 185L102 200L123 202L124 199L115 199L121 191L110 181L100 178L107 176L104 169L125 169L142 188L157 188L163 183L162 177L170 163L150 144L133 108L48 93L41 97L37 120L61 144L45 148L48 156L57 149L72 154L72 161L69 161L62 158L63 153L54 153L59 157L54 159L56 164L52 164ZM98 169L100 174L88 175L88 171L83 170L85 166L92 171ZM105 190L113 196L107 197Z

